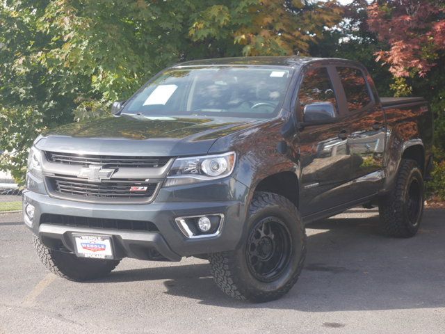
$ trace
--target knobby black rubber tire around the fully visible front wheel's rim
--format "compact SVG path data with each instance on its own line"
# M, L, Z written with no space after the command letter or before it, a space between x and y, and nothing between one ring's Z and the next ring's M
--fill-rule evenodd
M247 245L250 231L268 217L277 217L286 226L291 240L289 260L275 280L258 280L248 266ZM209 255L211 273L227 295L256 303L279 299L289 292L300 276L306 255L306 233L298 209L291 201L275 193L257 191L250 203L247 234L238 249Z

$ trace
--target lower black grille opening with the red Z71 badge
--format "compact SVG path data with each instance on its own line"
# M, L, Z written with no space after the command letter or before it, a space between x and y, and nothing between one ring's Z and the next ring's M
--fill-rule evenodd
M51 188L57 193L85 198L150 198L158 185L157 182L144 182L143 180L114 179L88 182L77 177L48 177L48 180L51 183Z

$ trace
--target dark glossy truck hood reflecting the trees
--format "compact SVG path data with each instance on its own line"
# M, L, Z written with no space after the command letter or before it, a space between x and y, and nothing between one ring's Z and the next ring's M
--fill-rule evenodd
M63 125L42 134L35 145L40 150L100 155L207 154L216 139L259 122L252 118L124 115Z

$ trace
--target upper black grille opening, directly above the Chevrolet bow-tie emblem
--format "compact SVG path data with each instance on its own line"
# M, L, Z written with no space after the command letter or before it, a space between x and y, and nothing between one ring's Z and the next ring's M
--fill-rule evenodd
M118 157L108 155L88 155L45 152L49 162L76 166L90 166L98 164L108 168L157 168L167 164L168 157Z

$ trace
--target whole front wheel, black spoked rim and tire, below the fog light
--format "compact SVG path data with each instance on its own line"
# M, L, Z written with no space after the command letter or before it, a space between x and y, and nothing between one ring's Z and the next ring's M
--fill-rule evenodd
M258 191L250 204L247 235L237 250L209 255L216 284L235 299L279 299L298 280L306 234L298 209L275 193Z

